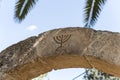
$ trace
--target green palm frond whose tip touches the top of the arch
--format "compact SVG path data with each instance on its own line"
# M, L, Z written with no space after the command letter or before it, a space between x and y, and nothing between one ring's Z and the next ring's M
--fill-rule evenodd
M87 0L85 6L85 27L90 28L95 25L100 12L107 0Z

